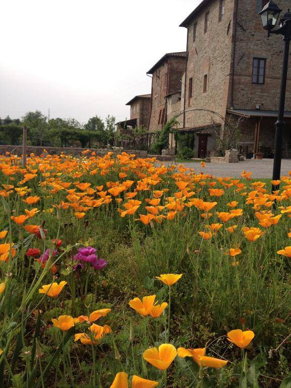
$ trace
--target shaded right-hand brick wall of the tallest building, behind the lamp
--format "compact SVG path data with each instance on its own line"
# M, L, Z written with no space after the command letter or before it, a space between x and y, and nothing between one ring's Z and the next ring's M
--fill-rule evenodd
M275 2L283 12L290 8L290 0ZM256 14L257 0L239 0L236 30L233 102L228 108L277 110L282 69L283 41L281 35L271 35L262 27ZM265 84L253 84L253 58L266 59ZM291 59L289 67L291 65ZM289 72L286 110L291 110L291 73Z

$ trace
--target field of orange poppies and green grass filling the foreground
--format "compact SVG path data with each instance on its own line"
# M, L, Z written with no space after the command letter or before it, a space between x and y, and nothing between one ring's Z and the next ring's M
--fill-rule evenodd
M203 170L0 157L0 388L291 387L291 176Z

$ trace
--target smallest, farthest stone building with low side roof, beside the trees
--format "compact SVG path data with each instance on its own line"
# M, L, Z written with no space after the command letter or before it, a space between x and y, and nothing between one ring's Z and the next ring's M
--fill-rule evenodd
M136 95L126 105L130 106L130 119L117 123L117 131L147 128L151 112L151 94Z

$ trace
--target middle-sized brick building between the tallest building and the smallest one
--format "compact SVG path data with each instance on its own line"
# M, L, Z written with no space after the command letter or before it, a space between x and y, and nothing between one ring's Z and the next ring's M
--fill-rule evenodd
M155 132L167 122L167 96L181 94L181 78L185 71L186 53L165 54L148 72L152 75L151 114L148 130Z

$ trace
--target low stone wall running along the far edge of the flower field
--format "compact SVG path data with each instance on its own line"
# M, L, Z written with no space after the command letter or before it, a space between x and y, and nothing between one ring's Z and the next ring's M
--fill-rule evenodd
M34 147L27 146L26 153L27 155L34 154L40 156L43 154L43 150L46 150L50 155L60 155L61 153L67 155L79 156L84 152L85 148L61 148L61 147ZM98 156L104 156L108 152L113 152L115 155L122 154L126 152L127 154L134 154L135 158L157 158L160 161L172 161L174 158L169 155L148 155L148 151L138 151L138 150L107 150L107 149L88 149L92 152L95 152ZM22 155L22 146L0 146L0 155L5 155L7 152Z

